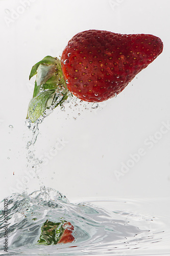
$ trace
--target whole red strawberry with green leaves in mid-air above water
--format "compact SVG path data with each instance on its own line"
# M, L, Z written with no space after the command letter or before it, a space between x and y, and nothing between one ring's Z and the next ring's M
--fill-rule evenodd
M37 77L27 118L34 122L52 103L61 105L68 91L89 102L116 96L162 50L161 39L154 35L101 30L76 34L68 41L61 61L46 56L33 66L30 78Z

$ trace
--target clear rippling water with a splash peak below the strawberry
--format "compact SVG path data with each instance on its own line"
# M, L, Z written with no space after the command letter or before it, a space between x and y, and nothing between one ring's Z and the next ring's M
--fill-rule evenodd
M130 204L133 209L139 202ZM70 203L59 191L41 187L30 195L13 194L8 198L7 254L3 247L3 208L4 200L0 205L1 255L158 255L159 249L160 255L170 252L168 217L128 212L125 201ZM39 245L37 241L46 220L69 221L74 226L75 240Z

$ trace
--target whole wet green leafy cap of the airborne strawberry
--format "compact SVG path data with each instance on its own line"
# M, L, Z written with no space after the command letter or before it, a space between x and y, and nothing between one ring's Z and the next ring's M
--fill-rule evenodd
M53 106L54 109L68 98L60 59L44 57L32 67L29 79L34 75L34 93L27 113L27 119L30 118L32 122L35 122L47 108Z

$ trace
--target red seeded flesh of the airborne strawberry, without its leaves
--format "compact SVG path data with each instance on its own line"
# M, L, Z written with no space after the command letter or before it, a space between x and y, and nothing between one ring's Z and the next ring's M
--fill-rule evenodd
M154 35L88 30L69 40L61 69L72 94L100 102L122 92L162 50L161 39Z

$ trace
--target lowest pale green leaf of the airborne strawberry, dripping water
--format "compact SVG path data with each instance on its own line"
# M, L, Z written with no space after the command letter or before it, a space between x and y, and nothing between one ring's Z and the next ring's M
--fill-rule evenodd
M27 118L35 122L44 110L53 102L55 90L48 90L39 93L35 98L32 98L29 103Z

